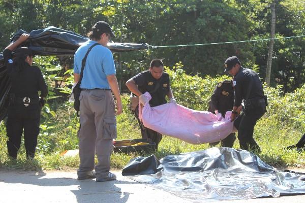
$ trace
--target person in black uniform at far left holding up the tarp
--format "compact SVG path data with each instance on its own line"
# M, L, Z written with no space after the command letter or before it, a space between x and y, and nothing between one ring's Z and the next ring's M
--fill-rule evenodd
M20 148L21 134L24 134L26 158L35 156L37 137L39 134L40 110L45 104L44 97L48 87L37 66L32 66L32 50L27 47L16 49L28 39L22 34L17 41L3 51L4 61L11 81L10 101L7 120L7 141L9 156L17 158ZM16 57L12 52L15 51ZM39 99L38 91L41 98Z

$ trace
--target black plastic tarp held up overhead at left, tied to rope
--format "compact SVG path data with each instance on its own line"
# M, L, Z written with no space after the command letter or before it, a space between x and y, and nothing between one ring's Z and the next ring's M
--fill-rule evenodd
M27 33L19 29L11 39L16 41L22 33ZM48 27L45 29L33 30L29 33L27 42L20 46L26 46L33 50L35 55L57 55L72 56L78 47L86 42L88 38L78 35L75 32L60 29L57 27ZM148 49L150 46L146 43L108 43L108 48L112 52L134 51ZM10 83L4 66L3 54L0 53L0 121L7 114L7 96L10 90Z

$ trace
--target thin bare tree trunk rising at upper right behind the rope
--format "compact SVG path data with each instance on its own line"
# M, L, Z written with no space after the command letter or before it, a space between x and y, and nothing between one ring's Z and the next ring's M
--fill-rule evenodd
M275 38L276 33L276 3L275 1L271 4L271 38ZM266 80L268 86L270 86L270 76L271 76L271 64L272 64L272 53L273 53L273 44L274 40L270 40L269 51L268 51L268 60L267 60L267 69L266 69Z

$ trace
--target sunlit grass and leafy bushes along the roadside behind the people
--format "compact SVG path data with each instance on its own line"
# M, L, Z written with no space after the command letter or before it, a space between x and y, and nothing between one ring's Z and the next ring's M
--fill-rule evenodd
M180 72L177 72L180 73ZM188 92L186 83L181 83L179 80L186 78L184 73L181 75L175 73L175 82L173 89L179 92L182 89ZM189 77L189 76L188 76ZM213 88L205 88L205 92L200 90L200 87L215 86L220 79L200 79L196 76L198 87L196 98L201 98L200 102L192 103L192 96L185 99L185 96L177 96L178 103L183 100L185 106L193 109L204 110L207 106L208 97ZM188 80L191 80L189 78ZM212 84L212 85L211 85ZM180 91L181 95L186 93ZM190 91L189 91L190 92ZM275 167L305 167L305 152L297 152L296 150L285 150L284 148L296 144L302 134L305 132L304 122L304 100L305 100L305 85L297 89L295 92L281 94L280 88L266 87L265 92L269 97L268 113L266 113L255 126L254 138L260 145L262 152L259 157L266 163ZM177 95L179 95L177 93ZM199 96L201 95L201 97ZM182 99L184 98L184 99ZM197 99L197 100L198 100ZM140 129L137 120L129 110L129 96L123 95L124 113L117 117L117 140L137 139L141 138ZM50 103L50 101L49 101ZM201 105L201 106L200 106ZM50 104L52 106L52 104ZM43 110L44 116L41 121L41 133L38 137L37 154L35 160L25 159L24 143L18 153L17 161L12 161L7 156L6 148L6 128L2 121L0 124L0 167L16 168L20 170L76 170L79 165L78 156L64 157L61 156L65 150L78 148L77 130L79 127L78 118L71 104L64 103L54 105L57 109L54 116L47 113L48 106ZM237 136L237 134L236 134ZM184 152L192 152L209 148L208 144L191 145L184 141L175 138L164 136L159 150L154 154L160 159L166 155L179 154ZM234 148L239 149L238 140L234 143ZM111 167L115 170L123 168L132 158L137 156L148 156L150 154L121 154L113 153L111 155Z

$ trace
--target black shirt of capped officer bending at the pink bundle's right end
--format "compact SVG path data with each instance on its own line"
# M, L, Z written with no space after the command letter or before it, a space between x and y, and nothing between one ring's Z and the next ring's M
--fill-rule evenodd
M249 85L252 87L248 93ZM264 98L262 82L256 72L240 67L238 73L233 78L234 86L234 106L239 107L242 99L248 98ZM249 97L247 97L249 94Z

